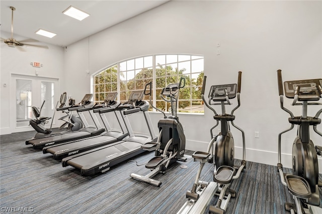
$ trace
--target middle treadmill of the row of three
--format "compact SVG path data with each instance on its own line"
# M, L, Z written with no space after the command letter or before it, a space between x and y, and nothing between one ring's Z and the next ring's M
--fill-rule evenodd
M98 104L94 107L93 112L98 113L101 109L115 109L120 105L120 102L115 101L117 96L117 92L110 92L107 94L105 101L101 104ZM110 143L115 143L124 139L128 136L128 133L124 131L122 124L120 122L120 116L117 115L119 111L113 111L115 116L120 124L122 132L119 130L111 129L106 115L104 113L100 113L100 117L105 125L106 132L103 132L101 135L97 135L94 137L89 137L81 140L73 140L65 143L61 143L58 145L46 146L42 149L43 153L51 153L53 154L54 159L62 159L64 157L78 154L84 151L88 151L97 147L101 147Z

